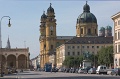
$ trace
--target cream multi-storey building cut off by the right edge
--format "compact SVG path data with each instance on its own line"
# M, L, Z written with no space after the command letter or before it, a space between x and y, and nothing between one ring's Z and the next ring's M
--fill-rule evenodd
M120 67L120 12L113 15L114 21L114 67Z

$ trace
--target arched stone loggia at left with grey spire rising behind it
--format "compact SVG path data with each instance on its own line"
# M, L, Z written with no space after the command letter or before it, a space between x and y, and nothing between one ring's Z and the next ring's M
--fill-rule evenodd
M29 69L29 57L29 48L11 48L8 38L6 48L0 49L0 69Z

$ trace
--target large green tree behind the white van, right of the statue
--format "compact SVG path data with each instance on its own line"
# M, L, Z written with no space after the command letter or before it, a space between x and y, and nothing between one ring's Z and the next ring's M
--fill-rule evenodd
M109 66L113 64L113 46L103 47L98 52L98 63Z

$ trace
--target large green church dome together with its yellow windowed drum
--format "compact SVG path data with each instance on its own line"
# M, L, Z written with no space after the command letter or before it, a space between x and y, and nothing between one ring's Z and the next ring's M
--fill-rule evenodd
M97 29L97 19L94 14L90 12L90 6L86 2L86 4L83 6L83 13L77 18L76 36L98 36Z

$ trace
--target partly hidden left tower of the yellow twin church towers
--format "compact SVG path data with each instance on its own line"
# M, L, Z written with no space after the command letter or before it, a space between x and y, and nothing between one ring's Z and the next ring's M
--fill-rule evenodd
M46 50L46 19L47 16L45 15L45 11L43 12L43 15L41 16L41 25L40 25L40 65L41 67L44 67L45 63L45 50Z

